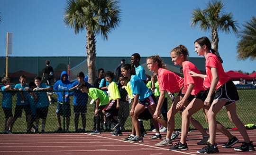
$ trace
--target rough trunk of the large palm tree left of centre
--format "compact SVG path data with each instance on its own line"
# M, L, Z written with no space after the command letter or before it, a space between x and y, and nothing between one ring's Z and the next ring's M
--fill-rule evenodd
M96 41L94 33L88 29L86 33L86 54L88 65L88 82L93 84L95 80Z

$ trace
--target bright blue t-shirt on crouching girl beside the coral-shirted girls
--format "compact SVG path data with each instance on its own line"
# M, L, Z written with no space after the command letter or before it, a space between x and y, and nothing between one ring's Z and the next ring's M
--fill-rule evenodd
M132 94L139 94L139 99L141 101L150 97L153 93L146 87L146 84L137 76L131 75L130 80Z

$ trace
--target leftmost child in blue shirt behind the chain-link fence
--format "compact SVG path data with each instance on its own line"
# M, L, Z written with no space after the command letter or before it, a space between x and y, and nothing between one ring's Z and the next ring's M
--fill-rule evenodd
M3 98L2 98L2 108L3 108L3 112L5 114L5 130L4 133L5 134L12 134L11 131L9 131L12 119L13 119L13 115L12 115L12 95L13 92L9 92L9 90L13 90L13 88L10 85L10 79L9 77L3 77L2 78L2 83L4 84L3 87L1 87L1 90L4 91L3 92Z

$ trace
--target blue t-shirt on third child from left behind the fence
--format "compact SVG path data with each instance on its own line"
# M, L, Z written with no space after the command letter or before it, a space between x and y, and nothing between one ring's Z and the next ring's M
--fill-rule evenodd
M45 83L41 83L39 88L49 88L50 86ZM48 97L46 91L38 91L37 94L37 107L49 106Z

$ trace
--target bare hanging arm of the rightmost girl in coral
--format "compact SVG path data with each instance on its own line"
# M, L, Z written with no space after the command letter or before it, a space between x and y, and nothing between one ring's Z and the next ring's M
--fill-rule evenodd
M204 101L204 105L205 106L210 106L210 100L211 100L211 96L217 86L217 83L219 81L219 75L218 75L218 70L217 68L211 67L210 68L211 74L212 74L212 81L210 83L210 90L209 93L207 95L207 98Z

